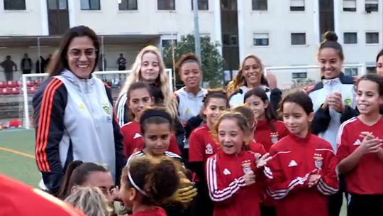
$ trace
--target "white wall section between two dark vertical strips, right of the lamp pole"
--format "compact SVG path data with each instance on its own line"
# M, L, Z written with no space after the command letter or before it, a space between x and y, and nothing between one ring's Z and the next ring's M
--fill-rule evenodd
M290 11L289 1L268 1L267 11L252 11L252 1L243 1L243 9L245 55L255 54L272 66L316 63L313 1L306 1L305 11ZM253 45L253 33L269 33L269 45ZM306 45L291 45L291 33L306 33Z

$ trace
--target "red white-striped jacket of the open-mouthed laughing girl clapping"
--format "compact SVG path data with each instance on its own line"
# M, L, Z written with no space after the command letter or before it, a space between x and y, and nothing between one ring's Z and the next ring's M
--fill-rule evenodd
M221 150L206 162L206 179L209 195L214 202L215 216L259 216L258 181L245 185L243 175L247 171L258 172L255 167L255 153L241 151L236 155L228 155Z

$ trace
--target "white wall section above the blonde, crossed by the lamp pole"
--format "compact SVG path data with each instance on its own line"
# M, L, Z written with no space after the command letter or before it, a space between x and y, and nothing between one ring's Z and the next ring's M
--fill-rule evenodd
M74 21L71 26L86 25L99 34L162 34L178 36L193 33L191 1L176 0L175 11L158 11L157 1L138 1L138 11L118 11L118 1L101 0L101 11L82 11L80 1L74 1ZM199 11L200 33L210 33L214 39L213 0L209 11Z

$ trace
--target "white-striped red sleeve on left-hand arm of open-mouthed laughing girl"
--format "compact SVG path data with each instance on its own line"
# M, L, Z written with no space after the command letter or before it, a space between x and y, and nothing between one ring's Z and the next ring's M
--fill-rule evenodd
M223 179L225 178L225 175L222 175L221 172L218 171L216 156L207 160L206 178L209 188L209 196L213 202L227 202L231 200L240 187L245 186L243 177L235 178L231 183L226 183Z

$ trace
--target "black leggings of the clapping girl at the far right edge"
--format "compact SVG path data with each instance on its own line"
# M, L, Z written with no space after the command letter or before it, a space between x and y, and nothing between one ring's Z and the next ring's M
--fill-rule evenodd
M348 216L375 216L383 215L383 194L358 195L350 194L347 207Z

